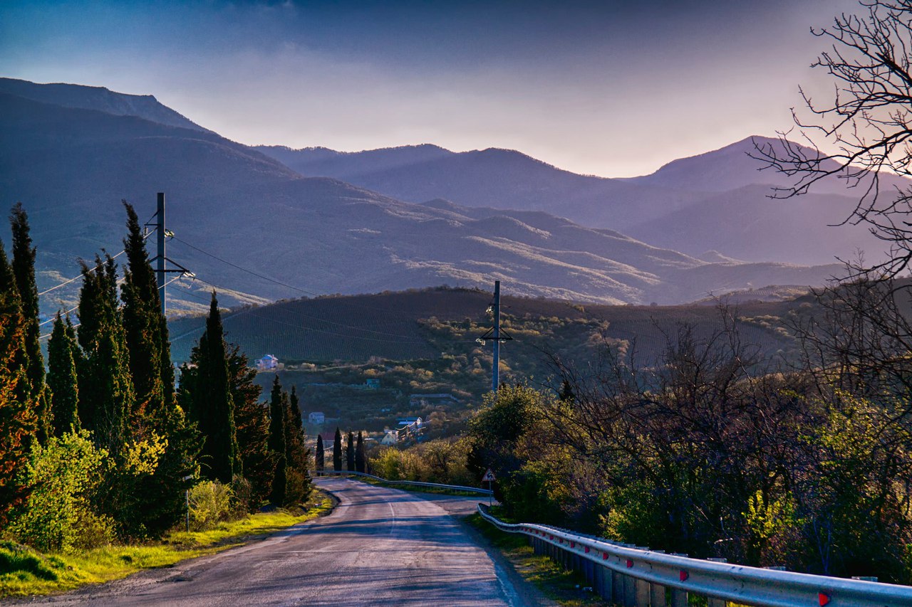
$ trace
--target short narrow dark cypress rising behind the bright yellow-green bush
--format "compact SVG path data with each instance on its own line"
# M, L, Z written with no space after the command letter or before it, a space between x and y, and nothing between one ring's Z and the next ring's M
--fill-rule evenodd
M79 429L76 352L73 324L68 316L65 323L58 312L54 330L47 341L47 386L51 389L51 419L56 437Z

